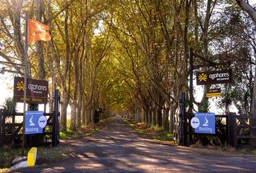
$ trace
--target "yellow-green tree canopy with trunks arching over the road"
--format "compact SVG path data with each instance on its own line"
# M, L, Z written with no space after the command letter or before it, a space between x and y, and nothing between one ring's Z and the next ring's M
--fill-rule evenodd
M231 62L232 84L221 84L219 107L234 103L252 114L255 9L244 1L15 1L0 2L0 57L24 62L25 13L51 27L51 41L29 45L29 74L61 90L61 130L124 114L173 130L179 94L189 91L189 48L214 62ZM249 14L245 13L242 9ZM196 64L202 63L199 60ZM21 76L24 69L8 66ZM202 70L213 70L207 67ZM205 86L200 107L208 98ZM256 87L256 86L255 86ZM189 103L192 104L192 103Z

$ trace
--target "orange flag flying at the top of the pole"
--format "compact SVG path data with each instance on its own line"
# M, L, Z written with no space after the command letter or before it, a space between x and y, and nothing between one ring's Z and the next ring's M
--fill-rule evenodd
M48 32L49 29L50 27L48 25L43 25L34 19L28 19L27 42L51 40L51 35Z

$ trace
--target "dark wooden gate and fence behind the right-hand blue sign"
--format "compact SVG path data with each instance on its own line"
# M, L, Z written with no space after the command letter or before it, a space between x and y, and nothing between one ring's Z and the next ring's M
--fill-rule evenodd
M224 119L224 123L216 123L216 134L195 133L190 125L190 120L194 115L190 115L185 111L185 94L182 93L179 100L179 108L174 116L174 141L181 146L187 146L199 140L199 137L223 137L223 143L231 146L256 146L256 126L250 125L249 121L256 120L256 117L248 115L236 115L230 112L229 115L216 115L216 122L220 122L220 118Z

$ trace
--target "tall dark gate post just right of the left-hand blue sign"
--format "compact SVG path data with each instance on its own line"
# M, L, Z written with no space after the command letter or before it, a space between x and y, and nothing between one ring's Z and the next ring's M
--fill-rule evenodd
M54 95L54 114L53 114L53 134L52 134L52 146L58 146L58 133L59 133L59 90L55 89Z

